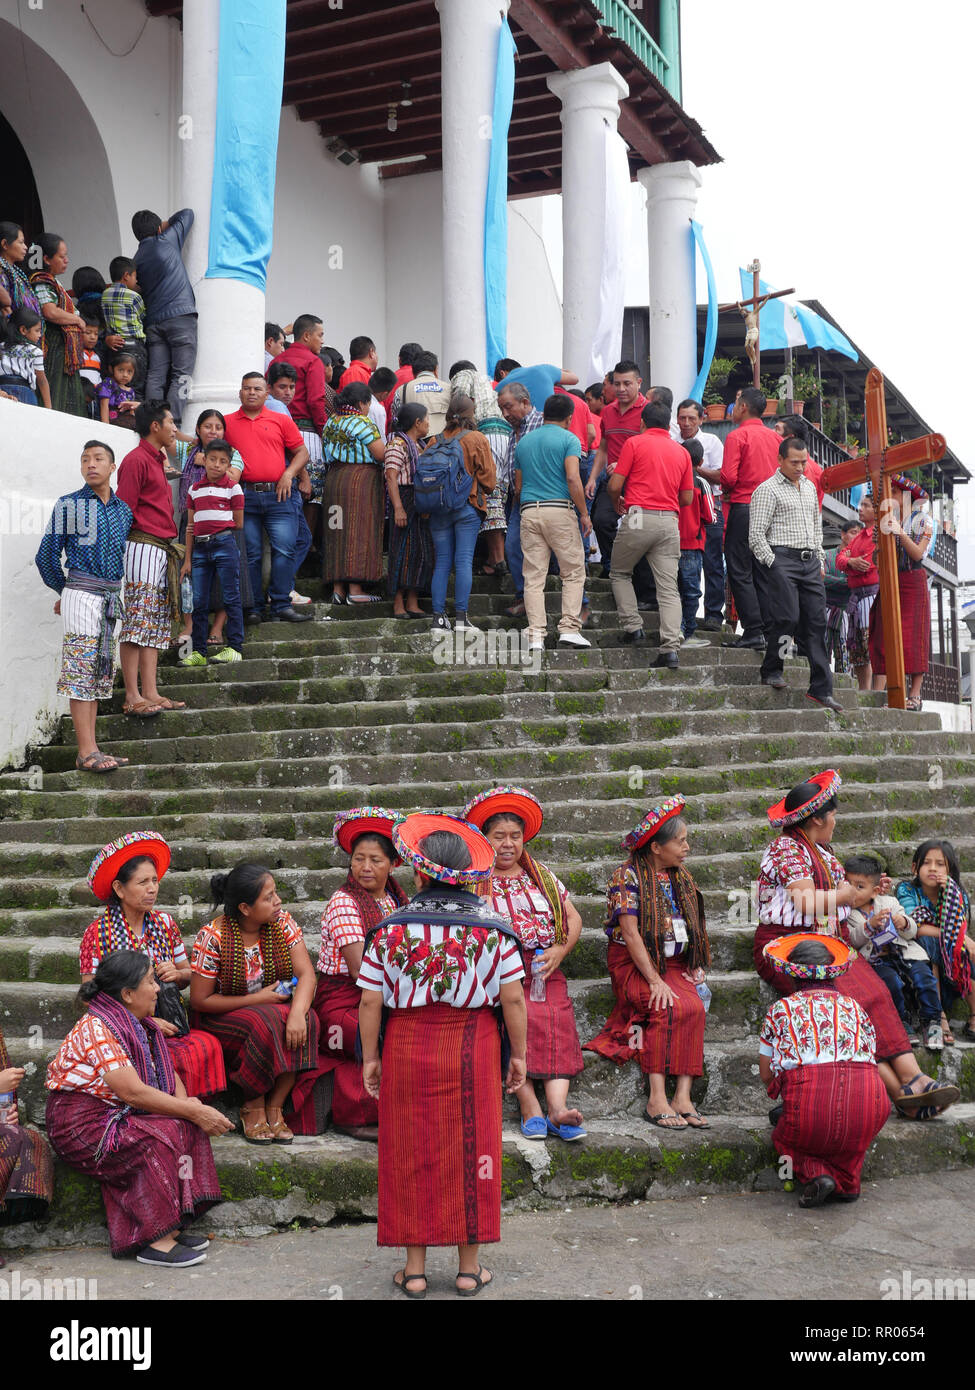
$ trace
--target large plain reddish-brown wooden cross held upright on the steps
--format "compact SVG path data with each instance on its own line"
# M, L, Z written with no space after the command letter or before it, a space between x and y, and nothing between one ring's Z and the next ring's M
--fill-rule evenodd
M943 435L921 435L887 448L887 404L883 398L883 374L871 367L867 374L867 445L868 452L848 463L837 463L826 468L822 485L826 492L867 482L873 493L876 509L878 570L880 571L880 617L883 619L883 653L887 667L887 708L905 709L907 689L904 687L904 634L900 626L900 589L897 587L897 542L894 534L885 527L890 516L890 475L917 468L925 463L936 463L944 457L947 443Z

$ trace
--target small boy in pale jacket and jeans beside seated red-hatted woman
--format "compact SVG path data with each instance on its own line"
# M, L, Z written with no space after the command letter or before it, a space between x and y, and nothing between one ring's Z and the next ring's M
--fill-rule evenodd
M924 1045L932 1052L939 1052L944 1047L940 1026L942 1004L928 954L917 940L917 922L904 912L897 898L879 892L880 865L876 859L854 855L846 860L843 870L858 892L871 892L869 901L861 908L853 908L847 917L850 945L869 960L890 990L890 998L908 1033L911 1024L904 987L914 991ZM915 1047L921 1038L912 1034L911 1045Z

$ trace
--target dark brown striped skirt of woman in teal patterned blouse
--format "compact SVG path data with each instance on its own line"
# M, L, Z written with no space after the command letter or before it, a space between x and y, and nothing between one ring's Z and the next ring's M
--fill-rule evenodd
M323 491L325 582L382 578L382 470L376 463L332 463Z

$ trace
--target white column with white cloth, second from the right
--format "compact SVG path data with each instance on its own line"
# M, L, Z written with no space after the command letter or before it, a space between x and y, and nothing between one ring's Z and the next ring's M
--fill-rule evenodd
M584 381L599 325L606 126L630 89L612 63L547 78L562 103L562 366ZM620 324L622 329L622 324Z

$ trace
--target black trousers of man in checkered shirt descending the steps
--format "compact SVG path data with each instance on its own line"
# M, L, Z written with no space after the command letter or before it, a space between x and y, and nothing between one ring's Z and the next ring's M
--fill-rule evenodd
M758 562L755 562L758 563ZM819 560L801 560L797 553L777 549L775 563L765 570L768 626L762 676L780 676L791 642L809 662L809 695L822 699L833 694L833 673L826 652L826 589Z

